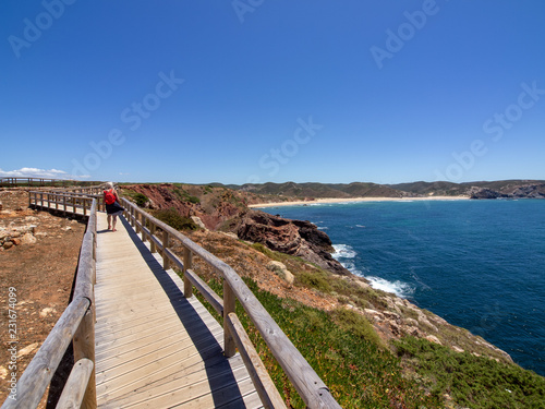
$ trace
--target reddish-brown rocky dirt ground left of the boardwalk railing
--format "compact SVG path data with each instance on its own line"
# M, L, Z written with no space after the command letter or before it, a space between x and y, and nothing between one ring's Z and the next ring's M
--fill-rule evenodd
M0 248L1 404L12 372L19 380L70 302L85 224L29 209L24 190L0 191L0 232L31 229L27 237L35 238ZM43 399L40 407L46 406Z

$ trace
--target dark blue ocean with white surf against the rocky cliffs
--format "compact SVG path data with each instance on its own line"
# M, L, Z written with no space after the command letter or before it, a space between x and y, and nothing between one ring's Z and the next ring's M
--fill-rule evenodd
M481 335L545 376L545 200L267 207L310 220L372 286Z

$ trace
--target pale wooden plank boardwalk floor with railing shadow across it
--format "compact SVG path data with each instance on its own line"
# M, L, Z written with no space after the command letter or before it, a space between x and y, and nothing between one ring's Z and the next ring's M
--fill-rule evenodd
M96 382L100 408L262 408L222 327L132 227L98 213Z

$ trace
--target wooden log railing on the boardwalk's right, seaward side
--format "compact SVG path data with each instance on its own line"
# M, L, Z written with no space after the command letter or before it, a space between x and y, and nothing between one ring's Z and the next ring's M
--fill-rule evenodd
M132 202L126 199L121 199L121 201L128 219L136 232L142 234L142 240L148 240L152 252L158 251L162 255L164 268L168 269L172 265L183 273L184 297L192 297L193 288L196 288L223 317L225 354L232 357L235 349L239 349L265 407L286 408L286 405L237 316L237 300L244 308L306 406L308 408L340 408L325 383L233 268ZM182 245L183 260L170 250L174 242ZM222 278L222 299L193 270L194 256L201 257Z

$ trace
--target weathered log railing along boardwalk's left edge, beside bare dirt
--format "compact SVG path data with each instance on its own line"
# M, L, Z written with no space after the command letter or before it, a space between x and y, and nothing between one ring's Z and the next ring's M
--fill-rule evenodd
M34 204L44 205L44 197L31 192ZM40 192L37 192L40 193ZM52 197L59 194L51 193ZM51 197L50 197L51 199ZM95 381L95 297L94 285L96 278L96 233L97 233L97 201L89 197L75 197L73 213L80 204L84 214L88 215L88 222L83 238L77 266L76 281L72 301L49 333L41 348L31 361L15 388L2 409L36 408L41 400L70 342L74 349L74 366L70 373L63 392L57 405L58 408L96 408ZM87 210L87 204L88 210ZM70 212L70 208L64 208Z

